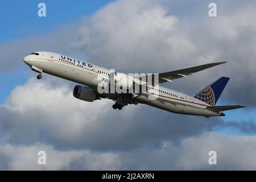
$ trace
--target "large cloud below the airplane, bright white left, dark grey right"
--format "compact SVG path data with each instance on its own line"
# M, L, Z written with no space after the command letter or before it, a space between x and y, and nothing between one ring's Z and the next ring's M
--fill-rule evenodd
M139 146L159 146L167 139L181 140L213 130L223 122L217 118L165 113L145 105L129 105L117 111L112 109L113 101L80 101L72 96L72 84L63 82L52 86L47 76L44 79L31 78L17 86L0 105L5 142L131 150Z

